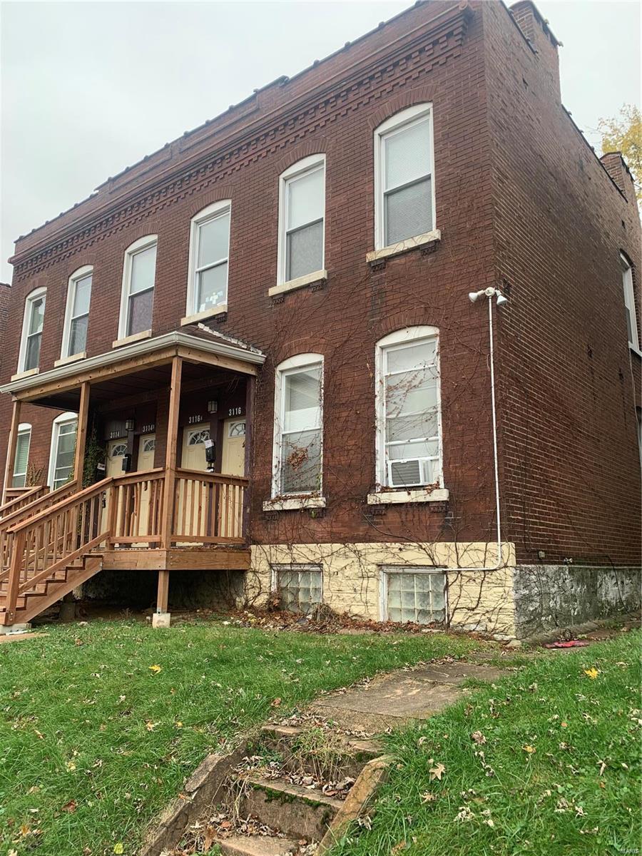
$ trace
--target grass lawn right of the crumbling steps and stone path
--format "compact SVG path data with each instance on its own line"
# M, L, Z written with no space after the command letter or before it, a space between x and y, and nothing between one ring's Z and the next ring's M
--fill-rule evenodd
M332 856L640 853L641 640L538 657L390 735L372 829Z

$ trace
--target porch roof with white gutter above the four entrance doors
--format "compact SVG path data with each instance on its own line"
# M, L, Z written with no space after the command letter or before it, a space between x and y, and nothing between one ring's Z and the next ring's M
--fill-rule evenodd
M135 376L137 386L150 389L167 383L166 367L175 356L182 357L186 366L205 365L245 375L256 375L265 362L265 354L258 348L199 325L132 342L48 372L16 377L0 386L0 392L10 393L19 401L73 410L81 383L89 382L97 391L98 387L105 392L111 389L110 395L122 395L122 390L116 389L118 378ZM134 377L129 379L134 381ZM128 392L134 391L130 383Z

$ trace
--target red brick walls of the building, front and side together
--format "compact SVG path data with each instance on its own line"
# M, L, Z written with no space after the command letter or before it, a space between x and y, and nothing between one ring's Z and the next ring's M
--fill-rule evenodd
M467 300L467 292L505 278L511 303L498 327L508 538L518 540L524 558L538 549L570 555L589 536L597 544L602 526L609 556L629 561L635 509L625 413L633 413L633 404L613 374L615 362L627 368L627 354L617 347L603 353L598 330L604 318L598 323L597 308L603 303L598 285L615 276L623 219L633 243L633 209L556 104L550 68L543 76L537 63L499 3L461 9L433 2L409 9L306 74L256 93L19 241L8 365L17 361L24 298L47 285L41 370L53 366L60 355L68 276L86 264L94 265L87 350L109 351L117 335L123 251L150 233L158 234L153 333L175 329L185 314L190 218L217 199L232 199L229 312L211 326L268 355L253 425L253 538L491 540L488 331L485 312ZM370 270L372 130L395 111L423 101L434 106L437 228L443 240L434 253L408 253L389 259L383 270ZM276 284L278 175L311 152L327 156L329 281L322 290L302 289L276 303L267 292ZM594 209L597 214L591 214ZM613 294L616 287L617 282L609 285ZM441 330L448 517L442 508L423 505L390 507L373 518L366 505L375 482L374 345L406 324ZM619 342L615 311L607 326L609 342ZM595 329L593 380L586 366L589 329ZM325 358L328 508L317 519L294 512L271 520L261 505L270 496L274 366L308 351ZM3 366L4 380L11 371ZM3 396L3 425L8 406ZM51 413L29 409L32 459L45 460ZM603 428L595 413L607 409L613 424ZM621 484L605 479L604 461L610 466L615 457L615 444L603 456L610 431L618 442L629 443L618 465ZM573 446L571 437L578 436ZM1 442L6 444L6 432ZM576 455L585 469L597 460L606 496L597 490L597 476L588 486L586 473L579 478ZM561 526L560 519L569 516L573 524ZM597 546L591 550L599 553Z

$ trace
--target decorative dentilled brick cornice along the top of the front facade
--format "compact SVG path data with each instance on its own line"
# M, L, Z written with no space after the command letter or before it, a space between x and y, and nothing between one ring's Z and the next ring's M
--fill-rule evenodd
M126 227L130 229L134 223L142 223L147 217L161 214L163 209L181 199L205 191L210 191L212 197L218 195L219 191L213 190L218 182L225 181L239 169L269 155L284 152L293 146L300 151L304 151L306 146L312 146L312 149L318 151L318 136L315 142L306 140L308 135L318 134L337 119L373 101L386 99L388 104L390 95L397 89L412 85L419 68L421 74L425 74L433 66L457 56L466 33L470 9L466 4L460 4L453 6L448 13L440 15L434 27L430 26L431 21L426 21L424 26L427 29L417 27L410 38L401 36L389 46L385 57L379 56L380 51L377 51L369 62L358 62L354 68L342 73L341 80L333 80L330 75L327 85L312 89L305 96L294 99L291 105L284 104L279 111L278 122L275 123L273 113L257 116L253 127L251 125L243 131L235 131L232 140L223 140L220 144L212 142L211 151L199 154L189 163L175 164L173 175L158 176L155 186L152 183L154 170L151 170L147 187L137 187L134 181L125 181L126 186L133 187L115 199L113 197L117 188L114 193L108 191L107 195L111 195L112 199L106 199L103 210L90 211L84 222L80 220L62 226L59 235L45 239L45 246L36 245L24 253L16 253L15 282L92 247L95 242L103 241L119 230ZM287 83L281 85L287 86ZM424 87L417 87L417 92L421 88ZM395 103L405 103L406 97L400 92ZM389 112L388 107L385 110ZM251 114L250 122L253 116L256 114ZM216 123L213 133L219 130L215 126ZM218 151L217 145L220 146ZM170 150L174 148L175 144L169 146ZM310 153L314 152L311 150ZM284 163L287 158L288 155L284 154L277 163ZM137 180L140 181L140 175ZM223 195L219 198L228 197ZM97 200L92 198L89 201L95 204ZM80 211L79 216L82 217ZM141 229L141 234L153 230L146 226L141 226Z

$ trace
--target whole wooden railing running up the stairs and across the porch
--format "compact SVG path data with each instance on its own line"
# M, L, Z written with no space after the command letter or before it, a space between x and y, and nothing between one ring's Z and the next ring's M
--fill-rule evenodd
M247 479L175 470L169 544L243 544ZM63 485L0 520L4 608L98 547L161 543L166 471L103 479L80 492Z

